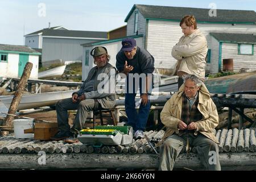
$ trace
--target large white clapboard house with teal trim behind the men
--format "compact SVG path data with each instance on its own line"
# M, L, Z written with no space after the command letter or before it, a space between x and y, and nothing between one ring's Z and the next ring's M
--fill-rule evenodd
M222 71L223 59L233 59L234 71L239 71L240 68L255 71L255 11L218 9L217 16L210 16L209 11L189 7L134 5L125 19L127 36L141 35L142 47L155 57L155 68L172 71L176 60L171 56L171 50L183 36L180 20L183 16L192 14L196 17L197 28L207 38L207 73ZM223 35L225 39L217 35ZM232 39L228 39L230 36ZM247 41L248 37L253 39ZM113 42L113 47L112 44ZM98 42L97 46L100 45L109 48L110 43ZM117 52L113 52L112 56L116 54Z

